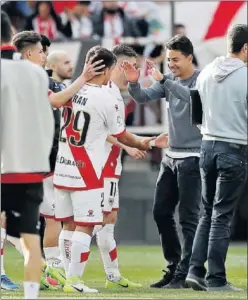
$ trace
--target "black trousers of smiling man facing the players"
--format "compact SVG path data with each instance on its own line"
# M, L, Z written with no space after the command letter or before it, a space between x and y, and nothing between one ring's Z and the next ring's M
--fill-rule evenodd
M186 277L197 228L201 201L199 158L173 159L164 156L157 179L153 215L161 237L168 268ZM182 247L175 223L178 206Z

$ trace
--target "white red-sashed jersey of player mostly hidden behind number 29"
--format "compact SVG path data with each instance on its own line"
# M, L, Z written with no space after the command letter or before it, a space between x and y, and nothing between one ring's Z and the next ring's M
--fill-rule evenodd
M118 86L110 81L108 85L104 87L113 96L116 109L124 122L125 120L125 104ZM111 133L109 133L111 135ZM117 146L106 141L105 143L105 166L103 169L104 178L119 178L122 171L121 163L121 149Z

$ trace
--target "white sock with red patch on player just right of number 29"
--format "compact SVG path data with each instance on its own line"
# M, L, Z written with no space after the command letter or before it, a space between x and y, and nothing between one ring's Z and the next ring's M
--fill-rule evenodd
M114 224L106 224L96 235L104 270L107 278L113 282L121 279L119 271L116 242L114 239Z

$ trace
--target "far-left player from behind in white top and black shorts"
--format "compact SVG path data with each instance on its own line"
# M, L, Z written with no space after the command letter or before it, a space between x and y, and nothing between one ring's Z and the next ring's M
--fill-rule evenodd
M11 38L10 20L2 12L1 46L12 55L1 60L1 210L5 212L7 233L21 238L24 297L37 299L41 277L38 215L54 124L46 73L30 62L14 61L20 55Z

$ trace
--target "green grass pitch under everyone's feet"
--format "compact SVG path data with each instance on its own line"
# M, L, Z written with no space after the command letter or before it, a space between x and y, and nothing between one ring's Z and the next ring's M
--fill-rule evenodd
M192 290L150 289L149 285L160 279L161 269L165 266L159 246L119 246L119 264L124 277L139 282L142 289L118 291L104 288L105 276L96 247L92 248L86 267L84 281L90 287L99 289L99 294L65 294L63 291L41 292L43 299L247 299L247 247L232 245L228 252L228 280L244 289L242 293L207 293ZM23 278L23 259L11 246L5 250L5 269L15 282L21 284ZM18 292L1 291L1 299L21 299L23 290Z

